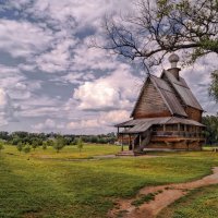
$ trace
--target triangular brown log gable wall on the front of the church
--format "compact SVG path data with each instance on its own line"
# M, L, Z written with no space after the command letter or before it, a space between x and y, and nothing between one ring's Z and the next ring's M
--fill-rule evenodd
M149 81L144 87L140 101L133 113L133 118L140 119L169 116L171 116L169 109L154 84Z

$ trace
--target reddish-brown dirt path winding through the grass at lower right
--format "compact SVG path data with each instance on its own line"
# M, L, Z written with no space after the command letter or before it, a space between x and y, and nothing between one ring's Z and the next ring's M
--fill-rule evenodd
M143 187L134 198L119 199L116 208L108 213L108 217L154 218L161 209L187 194L190 190L218 184L218 167L213 168L213 172L193 182Z

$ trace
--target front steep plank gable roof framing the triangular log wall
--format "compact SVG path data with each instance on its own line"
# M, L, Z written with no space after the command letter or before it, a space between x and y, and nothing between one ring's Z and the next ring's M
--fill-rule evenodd
M138 96L136 104L133 108L133 111L131 113L131 117L133 117L135 109L142 98L143 90L144 90L146 84L149 83L149 81L154 84L154 86L160 94L162 100L165 101L166 106L168 107L168 109L172 116L178 114L178 116L182 116L182 117L187 117L187 114L185 113L179 99L177 98L174 90L169 86L169 84L166 81L164 81L162 78L156 77L155 75L149 75L147 77L146 82L144 83L144 85L141 89L140 96Z

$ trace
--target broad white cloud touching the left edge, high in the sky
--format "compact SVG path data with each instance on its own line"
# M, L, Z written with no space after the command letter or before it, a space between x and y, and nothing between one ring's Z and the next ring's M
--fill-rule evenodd
M27 21L0 20L0 49L12 57L28 57L47 48L52 39L49 29L40 28Z

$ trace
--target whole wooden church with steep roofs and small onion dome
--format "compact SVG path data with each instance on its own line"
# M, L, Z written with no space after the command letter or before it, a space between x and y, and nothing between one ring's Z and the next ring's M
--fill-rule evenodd
M204 143L203 108L169 57L171 69L145 81L131 120L117 124L118 140L133 153L144 148L201 150ZM123 146L122 146L123 150Z

